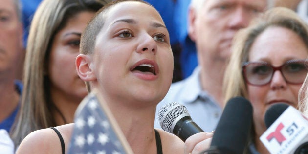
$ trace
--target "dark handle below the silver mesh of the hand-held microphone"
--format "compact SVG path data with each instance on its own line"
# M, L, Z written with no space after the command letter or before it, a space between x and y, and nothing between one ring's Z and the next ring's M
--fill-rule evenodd
M186 141L193 134L204 132L190 116L184 116L175 125L173 134L178 136L182 141Z

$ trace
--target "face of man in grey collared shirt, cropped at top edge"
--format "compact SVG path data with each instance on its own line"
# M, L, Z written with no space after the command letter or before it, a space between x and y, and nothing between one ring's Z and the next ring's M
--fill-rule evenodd
M235 33L263 12L267 0L205 0L190 10L189 35L196 42L199 58L225 61Z

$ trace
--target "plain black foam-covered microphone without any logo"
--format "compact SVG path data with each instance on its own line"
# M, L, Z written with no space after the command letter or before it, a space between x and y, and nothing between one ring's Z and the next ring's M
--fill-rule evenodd
M207 154L243 154L252 127L252 106L243 97L231 98L220 117Z

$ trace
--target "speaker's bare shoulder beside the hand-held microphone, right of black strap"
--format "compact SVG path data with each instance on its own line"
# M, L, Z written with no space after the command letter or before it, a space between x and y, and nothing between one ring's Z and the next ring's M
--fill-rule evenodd
M164 154L184 153L184 142L179 137L164 130L155 129L159 132Z

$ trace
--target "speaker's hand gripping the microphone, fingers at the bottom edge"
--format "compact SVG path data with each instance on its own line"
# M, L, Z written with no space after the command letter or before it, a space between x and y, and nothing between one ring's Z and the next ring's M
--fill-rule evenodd
M185 141L184 154L200 154L210 147L213 132L199 132Z

